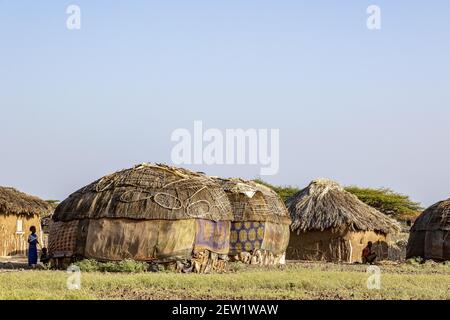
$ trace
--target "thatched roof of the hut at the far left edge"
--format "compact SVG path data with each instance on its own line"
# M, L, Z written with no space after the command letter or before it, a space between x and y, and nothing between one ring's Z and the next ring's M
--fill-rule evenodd
M0 214L43 215L51 211L52 206L38 197L14 188L0 187Z

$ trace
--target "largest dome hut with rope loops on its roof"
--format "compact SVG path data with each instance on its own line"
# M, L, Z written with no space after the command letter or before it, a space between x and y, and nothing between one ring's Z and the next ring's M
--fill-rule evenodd
M228 198L213 179L142 164L105 176L61 202L49 251L59 260L133 259L197 272L221 269L232 218Z

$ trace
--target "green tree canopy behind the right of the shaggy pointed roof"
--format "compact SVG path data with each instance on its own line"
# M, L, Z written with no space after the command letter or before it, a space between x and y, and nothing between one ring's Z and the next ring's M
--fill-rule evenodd
M345 190L354 194L369 206L396 218L414 217L423 210L420 203L414 202L408 196L396 193L390 189L350 186L346 187Z

